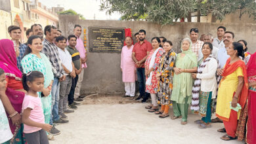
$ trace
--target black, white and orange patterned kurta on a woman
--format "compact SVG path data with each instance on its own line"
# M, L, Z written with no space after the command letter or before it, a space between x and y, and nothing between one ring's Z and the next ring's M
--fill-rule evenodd
M170 50L166 56L160 61L158 73L161 73L158 84L158 96L161 105L169 105L171 103L171 92L173 90L173 66L177 54Z

